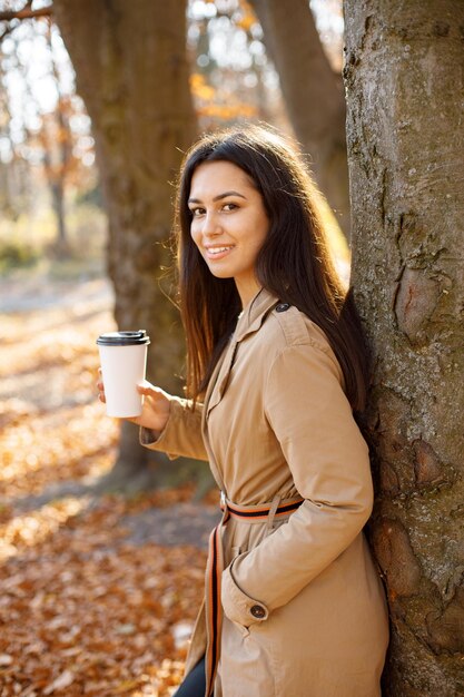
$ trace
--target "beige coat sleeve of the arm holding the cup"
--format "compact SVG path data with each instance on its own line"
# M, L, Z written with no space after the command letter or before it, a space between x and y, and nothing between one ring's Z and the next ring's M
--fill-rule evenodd
M195 404L181 397L171 397L170 415L165 429L155 433L140 429L140 443L150 450L166 452L170 460L178 457L208 460L201 435L203 404Z

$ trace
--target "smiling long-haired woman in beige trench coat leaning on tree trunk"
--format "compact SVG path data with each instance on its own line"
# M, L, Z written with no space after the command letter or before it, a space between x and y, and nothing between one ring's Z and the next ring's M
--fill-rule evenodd
M366 357L316 199L296 149L267 127L206 136L182 165L188 400L140 386L134 420L148 448L208 460L221 490L179 697L381 694L387 613L352 411Z

